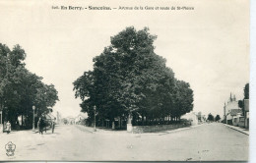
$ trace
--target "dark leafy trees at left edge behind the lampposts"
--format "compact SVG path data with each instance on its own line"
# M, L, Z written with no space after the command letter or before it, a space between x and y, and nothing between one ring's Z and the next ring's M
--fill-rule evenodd
M54 106L58 96L53 84L43 83L41 77L26 69L25 59L25 50L19 45L10 50L0 43L0 110L4 121L17 124L22 116L27 122L23 126L32 127L32 106L40 115Z

